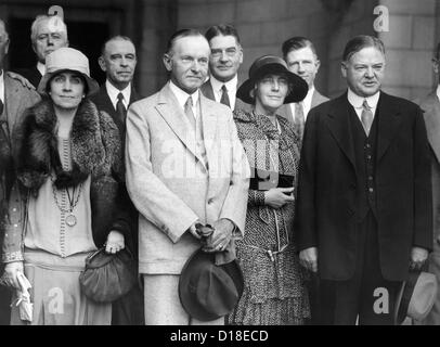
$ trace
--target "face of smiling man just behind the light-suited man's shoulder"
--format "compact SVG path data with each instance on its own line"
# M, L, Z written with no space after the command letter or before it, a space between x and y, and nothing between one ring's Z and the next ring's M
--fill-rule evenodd
M209 41L209 69L215 78L227 82L235 77L243 63L243 50L232 35L219 35Z

